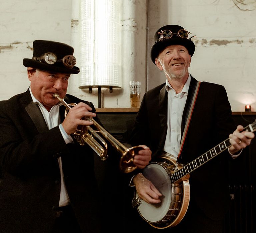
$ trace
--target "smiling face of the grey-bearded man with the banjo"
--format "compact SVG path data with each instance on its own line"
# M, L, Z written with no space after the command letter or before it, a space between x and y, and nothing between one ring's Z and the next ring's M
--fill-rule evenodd
M168 81L188 78L191 56L182 45L170 45L159 53L155 63L163 70Z

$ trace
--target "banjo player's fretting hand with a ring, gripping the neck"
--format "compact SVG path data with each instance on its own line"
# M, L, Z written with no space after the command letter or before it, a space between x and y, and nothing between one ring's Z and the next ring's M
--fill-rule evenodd
M254 138L253 132L242 131L244 127L238 125L233 134L229 134L231 146L229 152L235 154L237 151L250 145L252 138Z

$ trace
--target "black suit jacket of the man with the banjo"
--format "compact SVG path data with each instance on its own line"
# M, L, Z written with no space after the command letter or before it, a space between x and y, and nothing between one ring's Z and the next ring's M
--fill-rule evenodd
M182 116L182 132L196 80L191 76L188 97ZM146 144L158 160L167 133L167 96L165 84L148 91L142 100L131 133L131 144ZM201 82L179 162L186 164L210 150L233 132L231 107L223 86ZM222 219L228 209L229 192L227 151L190 174L189 208L196 206L212 219ZM195 209L196 211L196 209Z

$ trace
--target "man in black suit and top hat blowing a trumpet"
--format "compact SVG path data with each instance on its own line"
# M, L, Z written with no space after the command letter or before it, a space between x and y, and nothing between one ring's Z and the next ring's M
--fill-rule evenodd
M91 102L67 95L78 74L74 49L36 40L33 58L23 60L29 89L0 102L1 232L100 232L93 150L71 136L78 125L99 124ZM78 103L65 107L53 95ZM151 151L134 156L144 168Z

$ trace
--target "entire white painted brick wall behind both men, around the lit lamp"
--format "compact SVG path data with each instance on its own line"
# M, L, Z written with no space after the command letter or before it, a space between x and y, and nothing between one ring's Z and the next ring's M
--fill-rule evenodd
M72 8L74 2L76 8ZM122 20L135 20L138 25L134 33L136 56L133 61L129 60L130 49L124 46L126 50L123 55L126 57L123 57L122 83L128 84L134 78L143 81L142 85L145 86L146 71L148 89L165 81L165 76L159 73L149 56L143 61L146 55L146 32L149 54L155 31L165 24L179 24L197 36L190 73L198 80L224 85L232 111L244 111L247 103L256 111L254 0L244 0L243 3L248 5L239 5L243 11L232 0L149 0L148 22L145 0L122 2L136 6L136 12L131 12L130 16L123 14ZM78 5L79 0L0 0L0 100L27 90L29 82L22 60L32 57L33 40L71 44L75 48L74 55L79 57L78 25L72 21L77 20ZM127 43L125 39L123 43ZM130 74L125 67L128 62L134 65ZM104 106L129 107L127 88L124 86L113 93L105 91ZM97 92L89 94L88 90L79 90L77 78L70 81L68 91L92 101L97 107Z

